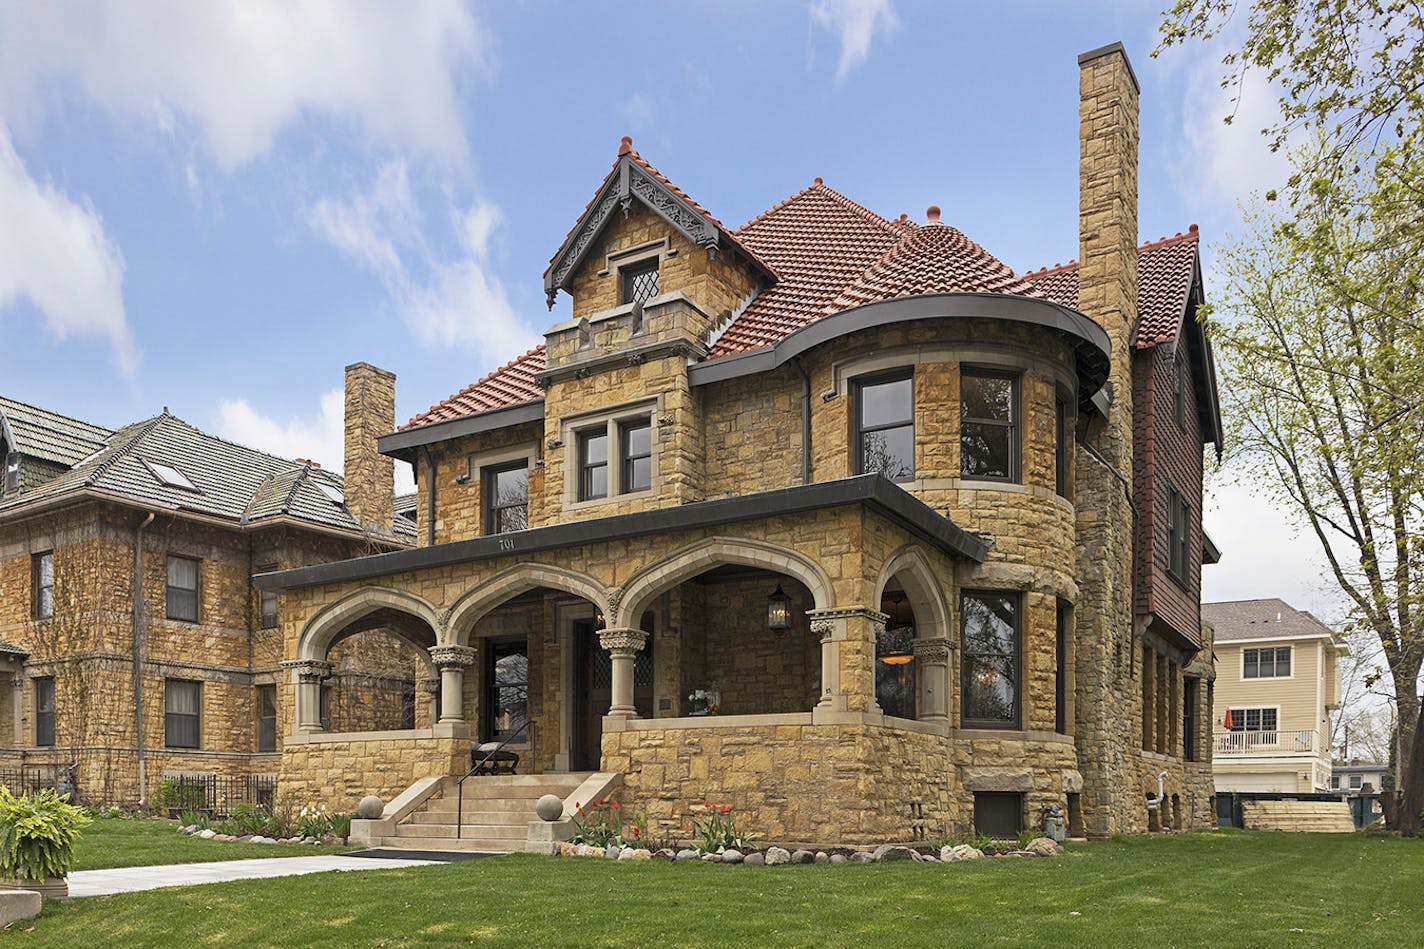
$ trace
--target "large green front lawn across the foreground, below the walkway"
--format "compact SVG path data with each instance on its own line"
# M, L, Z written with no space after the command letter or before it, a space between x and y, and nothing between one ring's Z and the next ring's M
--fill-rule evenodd
M13 945L1418 945L1424 842L1203 832L950 866L528 855L68 903Z

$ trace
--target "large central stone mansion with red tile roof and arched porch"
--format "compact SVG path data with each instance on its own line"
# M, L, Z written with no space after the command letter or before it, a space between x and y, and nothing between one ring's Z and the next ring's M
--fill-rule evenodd
M706 798L772 841L1210 826L1198 235L1138 247L1121 46L1081 93L1081 264L1030 274L819 178L729 228L625 138L545 272L571 319L380 439L420 546L258 579L282 781L429 801L427 845L471 740L611 775L659 835ZM323 730L376 626L439 720Z

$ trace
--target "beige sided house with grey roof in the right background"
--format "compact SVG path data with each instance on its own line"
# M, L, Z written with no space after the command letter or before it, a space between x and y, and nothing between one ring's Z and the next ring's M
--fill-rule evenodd
M1216 630L1218 791L1330 791L1330 712L1349 650L1284 600L1203 603Z

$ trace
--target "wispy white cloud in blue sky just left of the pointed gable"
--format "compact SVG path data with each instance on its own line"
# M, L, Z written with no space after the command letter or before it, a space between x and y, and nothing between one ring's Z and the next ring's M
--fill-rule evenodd
M400 318L427 346L467 346L504 356L535 333L510 306L494 275L493 204L449 208L457 252L441 255L424 237L424 218L404 162L387 162L366 191L323 198L309 209L312 229L386 286Z

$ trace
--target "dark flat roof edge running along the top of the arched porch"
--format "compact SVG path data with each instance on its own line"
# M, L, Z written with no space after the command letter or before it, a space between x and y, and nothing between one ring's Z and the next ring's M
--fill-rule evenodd
M259 590L295 590L326 583L355 583L410 570L430 570L648 534L719 527L847 504L866 504L951 557L983 563L988 554L988 543L983 537L958 527L899 484L880 474L860 474L740 497L550 524L548 527L473 537L447 544L416 547L414 550L397 550L356 560L263 573L253 577L253 584Z

